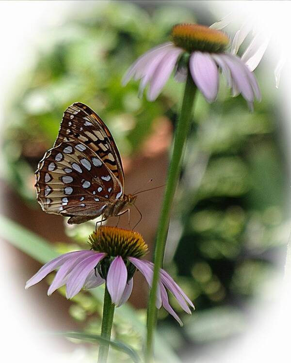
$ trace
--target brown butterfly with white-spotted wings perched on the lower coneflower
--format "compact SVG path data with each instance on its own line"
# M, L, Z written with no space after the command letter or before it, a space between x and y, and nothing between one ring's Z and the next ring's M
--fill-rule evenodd
M136 198L124 194L124 172L113 136L81 102L65 110L58 137L39 162L35 178L42 210L70 217L69 224L119 216Z

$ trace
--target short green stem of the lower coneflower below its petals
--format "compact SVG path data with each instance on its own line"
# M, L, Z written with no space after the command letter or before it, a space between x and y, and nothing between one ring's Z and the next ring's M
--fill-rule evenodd
M114 308L115 306L111 301L110 294L107 290L107 287L105 287L101 337L107 340L110 340L111 338ZM98 354L98 363L107 362L108 350L109 350L109 344L100 345L99 354Z

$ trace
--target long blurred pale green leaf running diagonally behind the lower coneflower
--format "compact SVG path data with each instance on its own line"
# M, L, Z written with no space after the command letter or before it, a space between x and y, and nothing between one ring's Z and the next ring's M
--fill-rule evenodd
M59 256L49 242L2 215L0 215L0 238L41 263L46 263L52 258ZM103 301L103 291L101 289L94 288L89 290L89 292L98 301ZM137 333L145 336L145 324L137 318L136 311L129 304L124 304L115 309L114 315L123 321L129 322ZM173 349L158 333L155 335L155 347L158 360L167 363L181 362Z

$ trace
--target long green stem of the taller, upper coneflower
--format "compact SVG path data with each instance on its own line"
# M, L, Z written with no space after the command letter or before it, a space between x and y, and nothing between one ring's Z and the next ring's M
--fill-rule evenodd
M146 362L151 362L153 355L153 335L157 321L156 294L159 282L159 271L160 268L162 267L167 232L170 222L171 206L173 203L173 198L180 175L183 149L192 120L192 108L194 104L194 96L196 90L197 88L193 82L191 73L188 70L183 103L175 134L174 147L168 170L168 177L167 177L165 194L162 204L162 212L160 216L157 239L156 239L155 256L154 256L155 267L154 267L152 288L150 291L148 310L147 310Z

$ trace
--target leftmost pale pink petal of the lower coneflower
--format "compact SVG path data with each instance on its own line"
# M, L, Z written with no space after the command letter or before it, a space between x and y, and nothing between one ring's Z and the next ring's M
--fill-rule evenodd
M25 288L29 288L32 285L35 285L38 282L40 282L50 272L60 267L67 259L70 259L71 257L77 258L79 256L85 256L86 253L87 251L74 251L74 252L68 252L64 255L54 258L53 260L46 263L38 272L35 273L35 275L32 276L31 279L27 281Z

